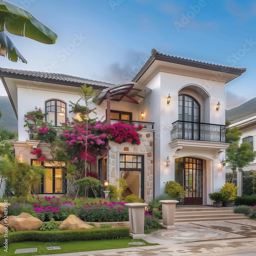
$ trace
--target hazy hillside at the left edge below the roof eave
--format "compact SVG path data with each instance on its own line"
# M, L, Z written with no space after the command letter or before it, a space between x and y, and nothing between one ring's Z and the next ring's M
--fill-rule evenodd
M10 130L18 131L17 118L7 96L0 96L0 110L2 112L0 125L3 125Z

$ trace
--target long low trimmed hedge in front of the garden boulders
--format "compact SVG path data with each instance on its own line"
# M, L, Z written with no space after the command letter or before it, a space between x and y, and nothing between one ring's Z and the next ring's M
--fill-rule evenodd
M17 231L8 233L8 244L19 243L25 241L35 242L71 242L71 241L87 241L129 238L129 228L95 228L85 230L60 230L60 231ZM0 247L4 246L4 234L0 236Z

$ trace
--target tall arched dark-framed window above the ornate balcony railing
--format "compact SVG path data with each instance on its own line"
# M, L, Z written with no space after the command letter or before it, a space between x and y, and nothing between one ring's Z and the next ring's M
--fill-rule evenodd
M200 105L186 94L179 95L179 121L200 122Z

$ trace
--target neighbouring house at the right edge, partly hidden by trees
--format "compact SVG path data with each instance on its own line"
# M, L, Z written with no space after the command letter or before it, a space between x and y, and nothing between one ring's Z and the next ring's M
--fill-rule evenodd
M241 144L243 142L249 142L254 150L255 149L255 139L256 139L256 116L255 116L255 113L232 121L228 127L232 128L234 126L237 126L239 128L239 131L241 131L243 133L240 138L239 143ZM243 172L241 172L241 170L240 170L239 172L237 172L235 174L234 182L239 187L238 196L252 195L251 186L248 186L247 182L252 184L251 177L252 177L252 173L255 170L256 170L256 159L253 159L253 161L250 162L249 165L245 166L242 169ZM232 170L230 168L228 168L228 166L227 166L226 167L227 181L231 181L231 177L232 177Z

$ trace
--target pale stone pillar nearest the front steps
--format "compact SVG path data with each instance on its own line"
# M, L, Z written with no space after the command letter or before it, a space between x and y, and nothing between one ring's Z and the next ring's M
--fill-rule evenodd
M159 202L162 204L162 216L163 216L162 227L166 229L175 229L175 225L174 225L175 208L176 208L176 204L179 203L179 201L161 200Z

